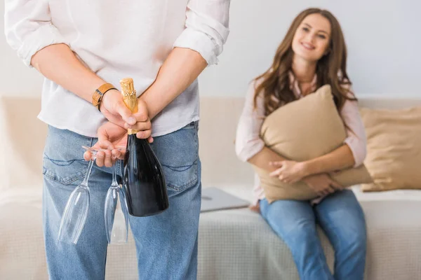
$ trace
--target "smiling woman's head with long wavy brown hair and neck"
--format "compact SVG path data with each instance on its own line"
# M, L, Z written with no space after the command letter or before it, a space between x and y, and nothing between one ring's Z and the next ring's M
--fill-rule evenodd
M302 71L295 62L311 62L312 71ZM309 63L306 63L309 64ZM349 94L351 82L347 75L347 47L338 20L327 10L309 8L298 15L290 25L285 38L279 45L272 66L262 75L255 92L262 93L265 99L265 115L279 106L297 99L290 89L293 70L303 87L303 95L309 93L309 84L316 73L317 87L329 83L338 109L347 99L354 100ZM255 101L259 94L255 94ZM275 99L272 97L276 97Z

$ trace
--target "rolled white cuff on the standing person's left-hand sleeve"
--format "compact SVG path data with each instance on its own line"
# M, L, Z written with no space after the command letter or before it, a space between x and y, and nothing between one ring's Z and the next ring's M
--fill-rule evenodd
M18 56L23 60L25 65L31 66L32 56L48 45L57 43L66 43L58 29L54 25L42 25L38 29L29 34L25 41L18 49Z

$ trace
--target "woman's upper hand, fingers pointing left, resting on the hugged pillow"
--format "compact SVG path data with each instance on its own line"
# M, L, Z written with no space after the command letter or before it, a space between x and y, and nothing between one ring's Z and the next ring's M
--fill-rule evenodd
M283 160L281 162L269 162L269 165L278 168L269 175L278 177L283 183L296 183L307 176L305 165L302 162Z

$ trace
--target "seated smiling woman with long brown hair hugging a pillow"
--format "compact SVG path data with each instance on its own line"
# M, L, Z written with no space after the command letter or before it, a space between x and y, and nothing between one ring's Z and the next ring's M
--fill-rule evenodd
M319 199L277 200L269 204L257 183L255 204L286 242L300 279L363 279L366 223L352 190L328 172L357 167L366 157L366 135L346 71L347 51L338 20L327 10L309 8L293 20L272 66L251 83L236 134L238 157L266 169L284 183L305 181ZM335 151L306 162L285 160L265 147L260 127L272 111L330 84L347 139ZM279 128L281 129L281 127ZM332 275L316 232L316 223L335 249Z

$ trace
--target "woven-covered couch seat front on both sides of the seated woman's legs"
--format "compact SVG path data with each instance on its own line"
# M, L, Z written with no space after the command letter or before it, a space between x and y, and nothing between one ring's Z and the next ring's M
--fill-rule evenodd
M420 202L366 201L361 207L368 235L365 279L419 279ZM249 209L203 213L200 225L199 279L299 278L288 247L259 214ZM318 232L332 269L333 248Z

